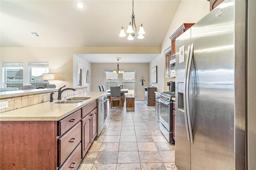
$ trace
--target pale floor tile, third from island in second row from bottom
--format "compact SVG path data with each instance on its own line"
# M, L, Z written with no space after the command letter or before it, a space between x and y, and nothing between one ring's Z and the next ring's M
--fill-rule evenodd
M138 151L118 152L118 163L140 163Z

